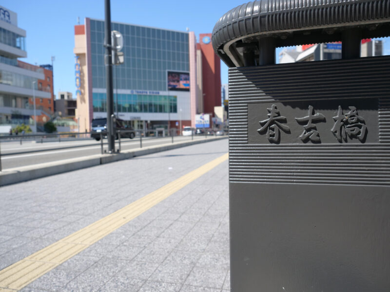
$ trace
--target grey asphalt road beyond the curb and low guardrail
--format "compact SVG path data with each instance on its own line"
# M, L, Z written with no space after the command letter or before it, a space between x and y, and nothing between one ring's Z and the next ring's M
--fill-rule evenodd
M205 136L194 136L194 140L198 139L205 139ZM174 143L190 140L191 136L174 137ZM143 147L166 144L171 142L171 137L142 138ZM107 149L107 140L104 139L103 143L105 143L103 145L103 149ZM139 146L139 138L135 138L133 140L130 140L128 138L121 139L121 150L135 149L139 148ZM100 142L94 139L44 143L26 141L23 142L22 145L20 145L20 142L17 141L1 141L0 147L2 169L66 160L70 158L77 158L101 153ZM117 148L118 141L116 140L116 149ZM35 152L27 153L29 151Z

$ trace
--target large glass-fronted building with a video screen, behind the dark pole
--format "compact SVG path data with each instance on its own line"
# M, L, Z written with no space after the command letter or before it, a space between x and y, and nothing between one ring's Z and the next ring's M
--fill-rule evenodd
M112 22L111 28L123 36L124 63L113 65L116 116L131 120L135 129L177 128L179 121L182 127L195 128L195 115L203 112L198 96L211 96L204 96L197 86L202 59L196 56L195 34L118 22ZM85 24L75 26L80 131L89 131L93 118L107 116L103 41L104 21L85 18ZM208 46L213 50L211 42ZM219 71L207 78L215 76L220 83ZM220 90L217 98L220 103Z

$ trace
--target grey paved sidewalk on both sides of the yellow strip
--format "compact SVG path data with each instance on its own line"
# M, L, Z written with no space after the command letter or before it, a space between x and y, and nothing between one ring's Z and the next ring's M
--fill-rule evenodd
M223 139L0 187L0 270L227 151ZM226 161L20 291L227 292L228 225Z

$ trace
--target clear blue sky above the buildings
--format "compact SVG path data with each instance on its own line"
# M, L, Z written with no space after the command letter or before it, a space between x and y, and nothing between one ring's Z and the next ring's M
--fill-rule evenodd
M138 25L211 33L216 21L230 9L247 1L237 0L111 0L111 20ZM27 32L27 58L32 64L50 64L54 55L54 90L75 91L74 25L77 18L104 19L104 0L3 0L1 5L18 14L18 26ZM280 50L277 50L277 53ZM390 55L390 41L385 42ZM228 82L221 65L221 81Z

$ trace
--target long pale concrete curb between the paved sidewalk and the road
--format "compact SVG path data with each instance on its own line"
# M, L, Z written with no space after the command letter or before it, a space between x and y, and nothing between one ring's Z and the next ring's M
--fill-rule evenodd
M81 158L72 158L56 162L34 164L18 168L12 168L0 172L0 186L30 181L42 177L47 177L59 173L73 171L77 169L87 168L100 164L112 163L120 160L129 159L136 156L152 154L156 152L172 150L180 147L212 142L216 140L226 139L228 136L213 137L205 140L179 142L177 144L163 144L158 146L149 146L131 150L124 150L117 154L98 154Z

